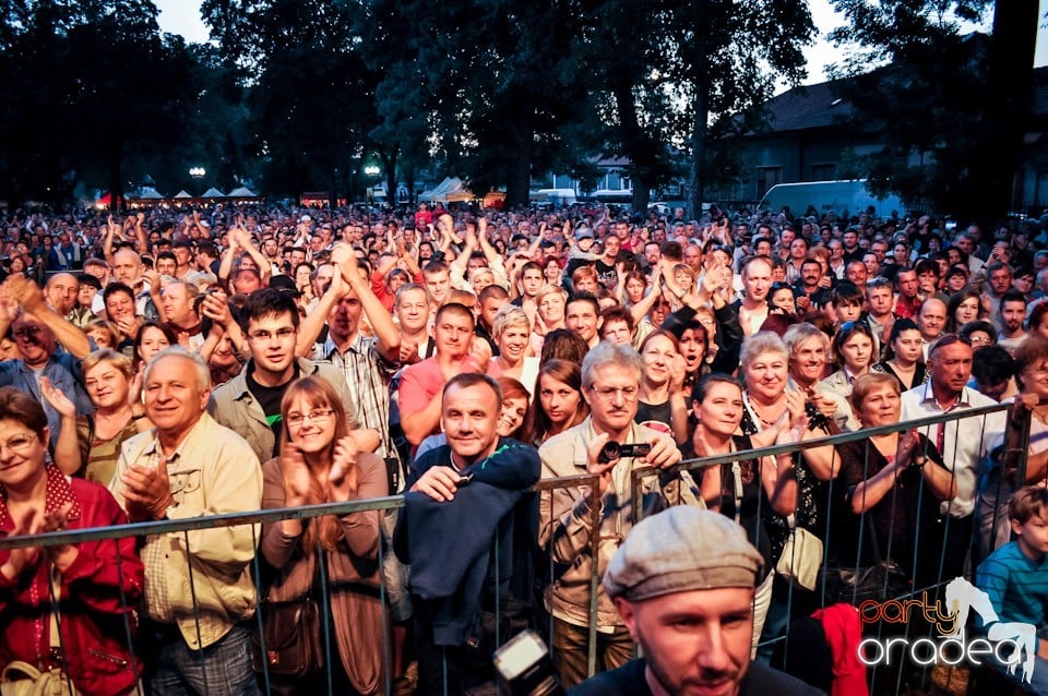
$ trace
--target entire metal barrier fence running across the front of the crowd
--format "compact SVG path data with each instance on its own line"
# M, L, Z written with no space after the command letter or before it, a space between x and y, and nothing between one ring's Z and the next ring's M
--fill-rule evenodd
M760 458L764 456L782 454L782 453L798 453L798 452L803 452L813 447L822 447L826 445L835 446L835 445L842 445L845 443L850 443L850 442L861 441L861 440L866 440L867 446L869 446L869 439L871 436L877 436L877 435L891 433L891 432L901 432L901 431L910 430L915 428L927 430L931 427L939 425L940 423L946 423L951 421L962 421L962 420L970 421L969 423L967 423L970 427L970 425L977 424L978 419L989 413L995 413L995 412L1004 410L1007 408L1009 407L992 406L992 407L986 407L986 408L969 409L964 411L953 411L944 416L922 418L919 420L900 423L897 425L885 425L885 427L876 428L876 429L865 429L858 432L843 433L843 434L833 435L830 437L809 440L798 444L776 445L773 447L764 447L761 449L736 452L729 455L705 457L702 459L692 459L678 465L677 467L675 467L675 470L698 471L698 470L706 469L713 466L731 464L735 461L747 460L747 459L757 459L758 461L760 461ZM958 428L960 427L961 425L958 425ZM1027 418L1026 422L1021 424L1021 429L1022 429L1021 445L1022 446L1008 453L1008 456L1012 457L1013 459L1011 466L1014 466L1019 471L1017 480L1020 481L1024 480L1025 478L1026 451L1027 451L1026 445L1029 443L1029 428L1031 425ZM951 465L954 463L945 463L945 464L952 469ZM867 457L867 461L865 463L865 466L866 467L869 466L869 457ZM643 480L646 477L655 476L656 473L657 473L657 470L651 469L651 468L636 468L634 470L633 479L632 479L632 485L633 485L632 500L634 503L643 500L640 494ZM579 488L580 494L582 494L581 491L588 488L588 490L591 491L590 494L593 495L593 501L591 505L591 509L593 511L593 514L591 519L588 520L588 533L590 533L591 548L593 547L593 543L598 539L599 524L600 524L600 505L599 505L599 501L596 497L595 492L593 492L594 489L596 488L596 482L597 482L596 476L584 475L584 476L569 477L569 478L562 478L562 479L544 480L538 482L533 489L534 492L541 495L544 491L551 491L553 489L561 489L561 488ZM827 487L830 488L831 492L833 490L833 484L834 484L833 481L830 481L827 483ZM1003 491L999 491L999 493L1003 493ZM827 497L826 500L832 501L833 499ZM893 497L892 504L895 504L895 501L896 499ZM254 539L255 541L258 541L259 535L258 535L257 525L274 524L285 519L313 519L313 518L319 518L325 515L343 516L352 513L366 512L366 511L377 511L377 512L395 511L403 506L404 506L403 496L389 496L389 497L382 497L382 499L353 501L353 502L346 502L346 503L310 505L310 506L303 506L303 507L297 507L297 508L267 509L267 511L258 511L258 512L243 513L243 514L215 515L215 516L199 517L199 518L192 518L192 519L129 524L118 528L94 528L94 529L81 529L81 530L72 530L72 531L58 531L58 532L50 532L50 533L37 535L37 536L7 537L7 538L0 538L0 550L11 550L11 549L31 548L31 547L46 548L46 547L53 547L59 544L75 544L78 542L92 541L92 540L118 539L118 538L132 537L132 536L144 538L147 536L155 536L155 535L176 535L176 533L182 535L182 538L187 543L187 548L188 548L188 544L189 544L188 532L191 530L210 529L214 527L225 527L225 526L239 526L239 525L253 525L254 527L252 527L252 529L254 532ZM998 511L995 511L995 513L998 514ZM636 519L640 519L640 517L643 514L643 511L640 507L636 507L634 508L633 514L634 514L634 520L636 520ZM841 519L843 519L841 516L849 515L849 514L851 514L850 511L835 511L832 508L826 509L824 521L821 528L819 530L815 530L817 533L821 532L824 539L829 538L834 528L834 525L837 524ZM862 533L864 533L862 530L865 529L865 525L862 523L865 521L867 515L868 515L868 511L864 511L860 515L858 515L860 532L859 532L859 539L857 540L857 549L861 549ZM948 520L946 520L948 527L950 521L951 520L948 516ZM919 536L920 536L920 530L918 530L918 537ZM258 548L258 544L255 545ZM919 548L919 539L915 540L915 550L918 548ZM381 538L380 538L380 543L378 545L379 567L381 567L384 561L384 556L389 552L390 552L390 549L386 548L384 543L381 543ZM500 550L496 549L496 553L500 553ZM856 553L858 554L859 551L857 550ZM891 550L889 549L886 552L886 555L890 555L890 553L891 553ZM261 575L258 556L259 556L259 553L255 554L255 560L252 565L252 575L254 577L257 586L260 583L260 575ZM321 559L323 557L322 553L320 554L320 557ZM860 559L857 555L856 567L858 567L859 561ZM928 586L922 586L922 587L913 587L913 589L909 592L907 592L906 596L897 597L894 599L907 599L908 597L916 597L925 592L926 590L933 591L933 592L938 591L943 585L943 583L951 579L951 578L942 577L941 575L944 561L945 561L945 557L942 557L942 556L939 557L940 574L936 578L937 580L936 583L929 584ZM549 572L551 573L552 561L550 561L549 563L550 563ZM825 576L831 569L832 568L830 567L830 559L826 555L824 555L823 563L822 563L823 575ZM324 575L325 574L321 573L322 583L325 581L323 579ZM598 583L599 583L599 577L597 574L597 564L593 563L592 573L591 573L591 583L590 583L591 622L588 626L588 632L590 632L588 668L590 668L591 674L595 671L595 668L596 668L597 625L596 625L595 616L596 616L596 607L597 607ZM322 588L323 588L323 591L321 593L322 610L323 610L323 615L327 615L330 612L330 603L329 603L330 598L329 598L329 591L327 591L329 588L326 587L326 584L322 585ZM885 588L886 588L886 585L885 585ZM386 613L388 607L386 607L385 600L386 600L388 590L389 588L385 586L384 578L382 578L379 585L379 596L382 602L382 611L383 611L382 663L383 663L383 670L384 670L384 684L385 684L384 691L385 693L391 693L392 684L393 684L393 679L392 679L393 675L391 673L392 659L393 659L392 658L393 646L392 646L392 637L390 635L391 624ZM784 609L785 609L785 619L786 619L786 622L788 623L789 620L796 619L798 616L797 612L795 611L796 607L803 605L806 602L800 601L799 596L802 592L801 590L798 590L794 585L787 584L785 590L786 590L785 591L786 597L784 600L785 601ZM826 597L825 592L826 592L826 588L825 588L825 585L823 585L818 591L818 593L820 595L820 597L818 598L818 601L815 602L818 605L825 607L831 603L830 598ZM807 599L810 600L811 598L808 597ZM498 611L500 609L498 598L496 600L496 604L497 604L496 609ZM264 609L262 611L264 611ZM551 640L552 617L548 616L547 619L548 619L548 625L546 626L546 631L544 633L546 633L545 637L546 637L547 645L550 646L550 649L552 649L552 640ZM910 615L909 619L913 619L913 616ZM261 627L262 625L261 611L255 613L255 617L252 621L257 627L259 628ZM196 625L199 631L199 616L196 617ZM498 625L498 622L496 625ZM907 620L906 622L906 627L910 627L909 620ZM883 628L883 622L881 622L878 625L879 636L881 635L880 632L882 631L882 628ZM931 627L929 627L929 629ZM498 632L498 628L496 631ZM130 634L129 634L129 637L130 637ZM507 639L507 636L496 635L497 645L501 645L505 639ZM333 636L330 634L329 625L326 622L324 622L323 624L323 644L325 647L326 657L331 658L333 656L334 659L338 659L337 649L333 649L334 640L333 640ZM763 650L766 650L770 647L774 648L775 646L781 646L781 651L783 655L782 659L788 661L788 656L790 651L788 636L785 638L779 636L771 636L762 643ZM134 656L133 659L139 659L138 657L139 653L135 651L136 647L138 646L135 646L133 643L130 645L130 648L132 650L132 656ZM331 670L330 670L331 659L325 660L325 664L329 665L329 669L326 672L327 693L332 694L334 692L332 691L332 682L331 682ZM931 672L932 670L926 667L921 674L921 679L925 681L928 681L928 679L932 676ZM870 677L871 686L873 688L873 693L900 693L904 688L903 672L901 671L883 670L883 669L880 669L879 667L872 667L869 670L869 677ZM938 675L938 679L940 679L941 681L942 679L941 673ZM945 679L949 683L950 680L952 679L952 672L948 673ZM888 680L889 683L885 683L885 680ZM894 683L892 683L892 681L894 681ZM267 671L263 671L263 673L260 675L260 682L265 693L271 693L272 685L271 685L271 680ZM141 693L141 689L140 689L140 693ZM446 682L445 682L445 693L448 693ZM955 693L963 693L963 692L955 692Z

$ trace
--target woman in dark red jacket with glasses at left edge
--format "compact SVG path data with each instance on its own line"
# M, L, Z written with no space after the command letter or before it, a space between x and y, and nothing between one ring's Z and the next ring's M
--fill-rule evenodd
M128 524L104 485L62 475L48 458L48 442L40 403L0 388L3 536ZM0 551L0 663L60 670L81 694L132 693L142 660L132 659L128 641L143 576L130 536Z

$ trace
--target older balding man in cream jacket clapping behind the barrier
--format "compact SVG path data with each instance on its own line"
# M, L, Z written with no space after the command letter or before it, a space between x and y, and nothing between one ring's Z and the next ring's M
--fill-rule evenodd
M144 391L154 428L123 443L110 485L131 521L259 509L262 468L240 435L206 413L211 375L200 356L157 353ZM140 636L154 696L259 693L243 623L255 608L254 547L248 525L146 537Z

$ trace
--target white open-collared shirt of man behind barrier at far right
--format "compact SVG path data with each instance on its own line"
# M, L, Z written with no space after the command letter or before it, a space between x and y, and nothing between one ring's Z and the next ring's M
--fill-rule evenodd
M982 406L996 406L997 401L979 394L970 387L964 387L961 398L950 410L965 410ZM903 392L901 422L939 416L946 412L931 391L931 382ZM973 416L926 425L921 432L932 444L938 445L940 428L943 429L942 460L957 481L957 496L943 501L939 512L953 517L967 517L975 512L976 484L979 464L990 453L996 442L1000 442L1008 423L1007 410L985 416Z

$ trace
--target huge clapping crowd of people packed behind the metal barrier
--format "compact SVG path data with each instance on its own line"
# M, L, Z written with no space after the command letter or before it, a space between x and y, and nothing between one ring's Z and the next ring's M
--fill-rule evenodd
M593 566L666 506L745 530L766 663L822 601L776 571L795 530L829 567L890 557L934 587L972 577L1014 531L1012 493L1048 480L1048 219L424 203L3 223L0 532L405 494L0 552L0 661L85 694L259 693L255 611L320 592L330 660L265 674L277 693L464 693L527 626L575 686L593 622L598 672L632 659L633 610L605 576L592 614ZM575 475L597 483L533 492ZM750 655L695 680L741 679Z

